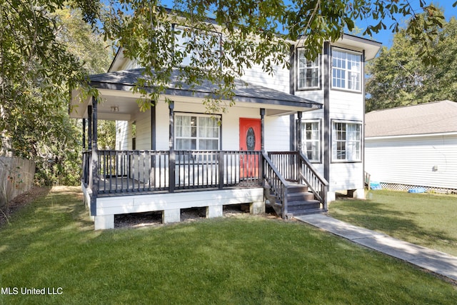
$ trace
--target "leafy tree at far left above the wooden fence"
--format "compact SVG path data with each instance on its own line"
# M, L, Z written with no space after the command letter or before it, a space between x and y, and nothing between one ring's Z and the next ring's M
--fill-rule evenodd
M87 23L95 13L77 8L84 1L42 2L1 1L0 130L16 155L36 161L39 181L75 184L81 127L69 119L69 86L106 71L111 56Z

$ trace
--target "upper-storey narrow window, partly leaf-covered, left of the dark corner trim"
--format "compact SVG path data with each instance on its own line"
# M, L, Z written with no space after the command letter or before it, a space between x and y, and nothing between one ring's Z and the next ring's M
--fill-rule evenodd
M318 89L321 77L319 58L310 61L306 59L305 51L298 49L298 89Z

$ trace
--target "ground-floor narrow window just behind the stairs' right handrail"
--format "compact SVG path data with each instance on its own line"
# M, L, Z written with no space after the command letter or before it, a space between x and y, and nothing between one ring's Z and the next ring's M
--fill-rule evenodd
M319 121L302 121L301 150L314 162L321 161L321 130Z

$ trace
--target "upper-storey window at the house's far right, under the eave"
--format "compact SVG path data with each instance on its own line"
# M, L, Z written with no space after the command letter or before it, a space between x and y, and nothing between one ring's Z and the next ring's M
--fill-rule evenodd
M332 50L332 87L361 91L361 54Z

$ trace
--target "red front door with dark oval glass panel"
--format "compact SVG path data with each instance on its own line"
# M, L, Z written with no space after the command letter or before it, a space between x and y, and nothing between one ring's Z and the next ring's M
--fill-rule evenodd
M261 120L240 118L240 177L258 176L258 154L261 150ZM251 151L251 152L250 152Z

